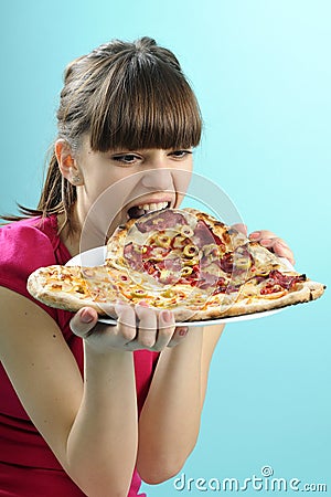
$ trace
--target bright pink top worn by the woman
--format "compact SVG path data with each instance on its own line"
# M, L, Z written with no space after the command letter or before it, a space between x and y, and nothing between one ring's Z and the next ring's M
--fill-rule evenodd
M57 235L54 215L45 220L34 218L18 221L0 229L0 286L30 298L55 319L83 374L82 339L73 335L68 326L72 313L46 307L35 302L26 290L26 278L34 269L65 264L70 258L71 254ZM139 350L134 356L140 412L159 355ZM138 494L141 479L135 470L128 497L146 496ZM30 421L0 363L0 497L84 495L63 470Z

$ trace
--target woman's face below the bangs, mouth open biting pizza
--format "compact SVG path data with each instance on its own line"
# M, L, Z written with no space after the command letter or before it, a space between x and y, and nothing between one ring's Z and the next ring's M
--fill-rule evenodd
M178 208L190 182L192 149L92 150L85 137L75 154L82 184L76 215L89 220L100 236L130 218L154 210Z

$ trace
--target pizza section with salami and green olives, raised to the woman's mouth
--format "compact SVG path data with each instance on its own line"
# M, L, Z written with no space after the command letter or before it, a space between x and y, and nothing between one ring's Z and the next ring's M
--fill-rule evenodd
M149 275L152 286L180 289L190 320L271 310L324 292L268 248L194 209L128 221L109 240L106 264Z

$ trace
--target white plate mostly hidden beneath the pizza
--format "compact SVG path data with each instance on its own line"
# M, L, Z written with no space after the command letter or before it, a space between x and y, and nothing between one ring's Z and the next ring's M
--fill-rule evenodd
M102 266L105 263L106 250L106 246L97 246L95 248L90 248L89 251L75 255L66 263L66 266ZM282 258L282 262L286 263L289 269L293 269L293 266L288 262L287 258ZM226 322L248 321L252 319L273 316L274 314L281 313L281 310L284 310L285 308L286 307L281 307L280 309L265 310L261 313L245 314L244 316L206 319L205 321L177 322L177 326L188 326L190 328L193 328L197 326L225 325ZM116 320L111 318L99 318L99 322L104 322L106 325L116 325Z

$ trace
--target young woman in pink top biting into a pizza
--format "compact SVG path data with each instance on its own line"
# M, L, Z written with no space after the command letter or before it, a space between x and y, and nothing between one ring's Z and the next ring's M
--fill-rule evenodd
M104 240L129 216L179 207L200 110L175 56L143 38L72 62L57 119L38 209L0 230L0 496L136 496L140 478L172 477L193 450L222 327L191 332L169 310L122 304L105 326L25 285L79 252L100 198L113 205L94 218ZM255 239L292 257L273 233Z

